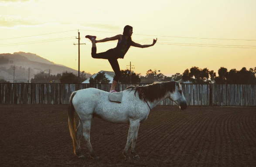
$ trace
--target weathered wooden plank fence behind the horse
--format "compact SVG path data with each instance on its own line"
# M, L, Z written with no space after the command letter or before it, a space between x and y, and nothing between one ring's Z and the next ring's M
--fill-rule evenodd
M118 84L123 91L130 84ZM188 105L256 106L256 85L181 84ZM111 84L0 83L0 104L68 104L72 92L98 88L109 92ZM160 105L175 105L165 99Z

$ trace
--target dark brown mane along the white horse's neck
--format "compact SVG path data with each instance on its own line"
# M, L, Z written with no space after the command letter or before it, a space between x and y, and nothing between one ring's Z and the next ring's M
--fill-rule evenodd
M167 92L174 92L176 82L169 81L169 82L154 82L150 85L145 86L129 86L127 89L131 89L133 91L135 89L134 95L136 96L137 89L140 89L140 92L144 96L144 101L154 102L160 98L163 98ZM140 100L143 100L142 95L139 93Z

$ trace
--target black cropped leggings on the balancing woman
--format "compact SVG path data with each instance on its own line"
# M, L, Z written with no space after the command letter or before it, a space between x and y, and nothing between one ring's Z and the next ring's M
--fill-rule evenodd
M118 57L116 56L113 49L109 49L106 52L96 53L96 47L92 47L92 58L94 59L108 59L112 69L115 72L114 81L118 82L121 76L120 67L117 62Z

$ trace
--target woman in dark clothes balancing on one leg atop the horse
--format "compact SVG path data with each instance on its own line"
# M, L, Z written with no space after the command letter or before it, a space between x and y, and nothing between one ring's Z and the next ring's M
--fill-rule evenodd
M126 52L129 50L130 46L139 47L139 48L147 48L150 46L154 46L154 44L157 42L157 39L154 39L153 43L151 45L140 45L140 44L132 41L132 38L131 38L132 34L133 34L133 27L127 25L123 29L123 35L119 34L119 35L113 36L111 38L105 38L105 39L101 39L101 40L96 40L96 36L89 36L89 35L85 36L85 38L88 38L92 41L92 58L108 59L112 69L115 72L115 77L113 79L113 82L112 82L112 85L110 88L111 93L116 92L115 87L116 87L116 84L121 76L120 67L119 67L117 59L119 59L119 58L123 59ZM118 39L118 43L117 43L116 48L109 49L106 52L96 53L96 43L113 41L113 40L117 40L117 39Z

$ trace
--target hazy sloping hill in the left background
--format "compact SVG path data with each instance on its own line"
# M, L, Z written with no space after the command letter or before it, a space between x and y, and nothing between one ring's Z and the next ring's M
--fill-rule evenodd
M57 75L58 73L62 74L62 72L65 71L73 72L74 74L78 73L75 69L71 69L65 65L55 64L33 53L14 52L14 54L0 54L0 79L13 82L13 78L15 78L17 82L27 82L28 75L29 80L31 80L34 74L42 71L50 71L52 75ZM86 73L86 76L90 77L91 74Z

